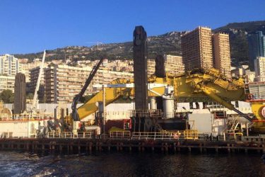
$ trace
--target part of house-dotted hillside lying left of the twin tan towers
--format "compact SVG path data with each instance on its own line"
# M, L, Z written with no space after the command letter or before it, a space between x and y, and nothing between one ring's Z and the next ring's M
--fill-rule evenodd
M148 58L155 58L158 54L181 55L180 35L184 32L170 32L163 35L148 37ZM132 42L110 43L102 45L86 46L69 46L57 48L56 50L47 50L45 60L52 59L97 59L104 52L109 59L132 59L133 44ZM42 58L42 52L15 55L18 58Z

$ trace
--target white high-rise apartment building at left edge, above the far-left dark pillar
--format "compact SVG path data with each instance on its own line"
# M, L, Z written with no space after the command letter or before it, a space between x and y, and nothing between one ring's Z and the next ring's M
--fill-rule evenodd
M13 55L0 55L0 74L16 76L19 72L19 62Z

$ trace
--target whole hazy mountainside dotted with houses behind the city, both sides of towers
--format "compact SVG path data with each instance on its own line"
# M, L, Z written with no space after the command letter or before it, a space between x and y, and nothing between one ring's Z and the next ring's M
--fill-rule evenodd
M228 23L223 27L213 30L214 33L228 33L230 35L230 50L232 65L244 64L248 61L247 55L247 34L258 30L265 32L265 21L251 21L245 23ZM158 54L181 55L180 36L184 33L172 31L163 35L148 37L148 58L155 58ZM46 60L52 59L97 59L103 53L108 59L132 59L132 42L120 42L86 46L69 46L56 50L47 50ZM42 52L15 55L18 58L42 57Z

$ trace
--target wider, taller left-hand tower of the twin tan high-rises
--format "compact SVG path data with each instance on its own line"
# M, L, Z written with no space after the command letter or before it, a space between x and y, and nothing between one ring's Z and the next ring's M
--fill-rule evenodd
M182 58L185 71L213 67L211 28L199 27L182 35Z

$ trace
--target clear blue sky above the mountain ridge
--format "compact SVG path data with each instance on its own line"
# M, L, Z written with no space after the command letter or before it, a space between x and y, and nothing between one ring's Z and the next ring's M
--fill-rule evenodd
M0 0L0 54L41 52L89 42L264 21L264 0Z

